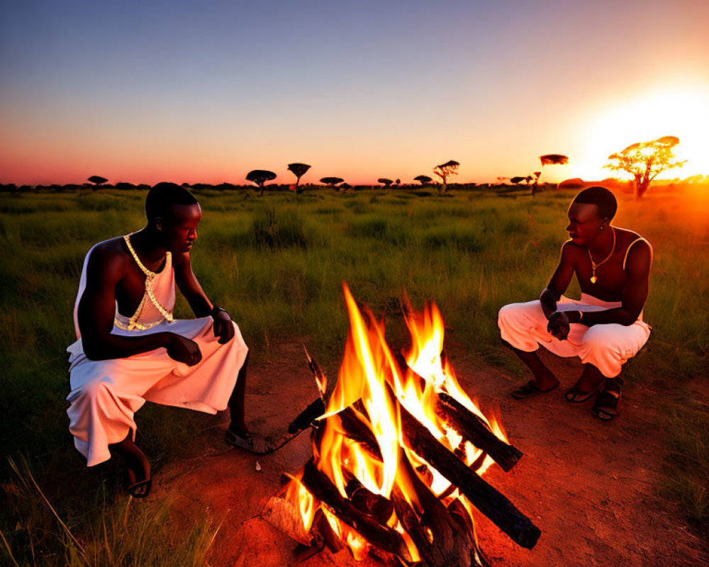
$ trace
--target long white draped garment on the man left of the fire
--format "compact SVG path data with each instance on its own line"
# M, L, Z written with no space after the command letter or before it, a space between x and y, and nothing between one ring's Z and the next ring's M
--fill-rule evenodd
M74 304L77 342L67 349L72 388L67 397L71 403L67 410L69 431L74 435L74 445L86 456L88 466L108 460L111 457L108 445L123 441L128 432L133 432L135 439L137 426L133 414L146 400L207 413L225 410L248 352L237 325L234 324L233 339L227 344L219 344L218 338L214 337L211 317L167 322L157 308L146 301L139 320L152 327L129 331L114 325L111 333L138 337L155 332L174 332L199 345L202 359L198 364L187 366L174 361L162 348L124 359L87 359L77 308L86 288L86 266L94 248L86 254ZM153 291L157 301L172 311L174 271L169 254L155 279ZM119 324L129 319L118 313L117 305L116 319ZM158 322L161 319L162 322Z

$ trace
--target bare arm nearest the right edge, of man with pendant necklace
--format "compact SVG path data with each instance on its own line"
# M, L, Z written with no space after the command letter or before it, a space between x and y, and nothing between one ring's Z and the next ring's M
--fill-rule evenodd
M627 282L623 288L620 307L605 311L584 313L581 323L587 327L603 323L632 325L642 313L647 301L648 280L652 267L652 247L647 242L638 242L630 249L625 263Z

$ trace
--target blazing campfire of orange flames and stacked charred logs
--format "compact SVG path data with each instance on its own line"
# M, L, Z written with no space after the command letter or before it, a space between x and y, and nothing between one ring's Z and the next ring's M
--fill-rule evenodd
M263 517L302 544L347 547L357 560L467 567L488 564L476 509L532 549L540 530L482 478L494 463L509 471L522 453L459 386L436 305L405 310L411 347L399 354L384 322L344 291L350 332L337 383L327 396L306 352L320 397L289 427L313 427L313 456Z

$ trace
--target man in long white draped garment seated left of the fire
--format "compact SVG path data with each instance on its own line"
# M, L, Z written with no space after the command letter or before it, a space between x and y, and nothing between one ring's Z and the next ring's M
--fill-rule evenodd
M88 466L125 458L135 497L150 491L150 464L135 446L133 414L146 400L208 413L230 410L227 439L252 447L244 422L248 348L192 272L201 209L172 183L150 189L147 225L100 242L84 260L74 305L69 430ZM197 316L173 320L177 283Z

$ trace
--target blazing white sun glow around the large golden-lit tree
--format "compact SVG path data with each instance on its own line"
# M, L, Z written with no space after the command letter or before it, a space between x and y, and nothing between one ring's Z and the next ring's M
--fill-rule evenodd
M617 101L587 116L583 156L574 171L583 179L610 176L608 155L635 142L679 137L675 154L687 162L659 179L709 174L709 86L666 87Z

